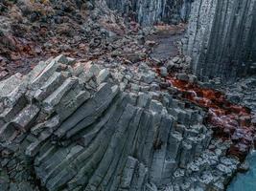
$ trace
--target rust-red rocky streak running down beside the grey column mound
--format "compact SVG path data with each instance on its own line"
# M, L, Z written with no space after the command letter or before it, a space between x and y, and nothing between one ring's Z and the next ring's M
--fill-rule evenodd
M225 96L215 90L199 87L187 81L169 76L166 81L177 88L182 98L208 109L206 121L212 126L218 138L232 141L228 155L244 159L248 154L255 134L255 124L251 122L248 108L230 103Z

